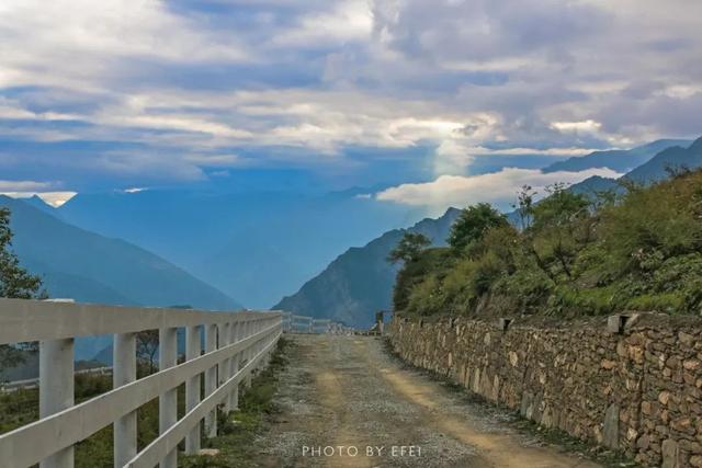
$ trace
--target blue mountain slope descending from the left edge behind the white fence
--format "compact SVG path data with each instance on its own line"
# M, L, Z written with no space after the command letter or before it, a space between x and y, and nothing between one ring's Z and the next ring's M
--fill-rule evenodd
M141 248L71 226L22 199L0 196L0 206L11 210L13 250L22 265L44 278L52 297L127 306L240 307Z

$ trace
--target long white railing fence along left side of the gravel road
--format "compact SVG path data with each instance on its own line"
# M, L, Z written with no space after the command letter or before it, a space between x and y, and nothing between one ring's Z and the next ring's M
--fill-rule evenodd
M185 329L178 364L177 331ZM136 379L136 334L159 330L159 372ZM282 333L280 312L204 312L0 299L0 344L39 342L39 420L0 435L0 465L73 466L73 444L114 425L114 466L177 466L178 444L200 449L217 433L216 409L238 404L240 383L268 364ZM73 339L113 334L113 390L73 404ZM204 354L201 343L204 335ZM201 375L204 399L201 400ZM185 415L177 389L185 383ZM159 436L137 453L136 410L159 398Z

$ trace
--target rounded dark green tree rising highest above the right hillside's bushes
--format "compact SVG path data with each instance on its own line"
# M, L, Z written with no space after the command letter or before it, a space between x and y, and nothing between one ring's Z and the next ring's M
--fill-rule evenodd
M463 252L471 243L480 240L488 230L507 224L505 215L489 203L478 203L461 212L458 219L451 226L446 241L455 252Z

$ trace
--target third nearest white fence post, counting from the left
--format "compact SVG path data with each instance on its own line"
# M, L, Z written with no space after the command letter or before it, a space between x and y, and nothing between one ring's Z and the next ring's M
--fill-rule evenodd
M163 328L159 330L159 370L165 370L178 364L178 329ZM178 388L161 393L158 400L158 429L163 434L178 421ZM160 468L176 468L178 466L178 447L166 456Z

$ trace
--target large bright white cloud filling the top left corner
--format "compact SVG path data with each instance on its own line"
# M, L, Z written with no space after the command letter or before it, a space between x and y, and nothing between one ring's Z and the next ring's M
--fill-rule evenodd
M236 36L215 36L158 0L4 0L0 33L0 77L14 76L14 81L84 84L109 73L112 60L126 57L188 62L247 58ZM19 42L22 47L15 48Z

